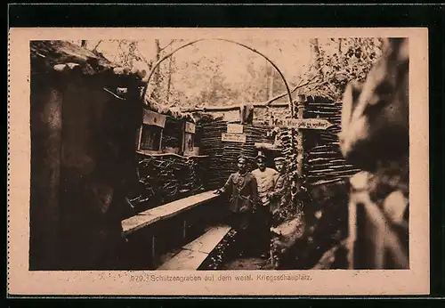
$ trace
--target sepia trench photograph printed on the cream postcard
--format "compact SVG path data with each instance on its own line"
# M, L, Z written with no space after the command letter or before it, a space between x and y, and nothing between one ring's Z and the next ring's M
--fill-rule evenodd
M210 33L28 40L25 271L409 271L409 36Z

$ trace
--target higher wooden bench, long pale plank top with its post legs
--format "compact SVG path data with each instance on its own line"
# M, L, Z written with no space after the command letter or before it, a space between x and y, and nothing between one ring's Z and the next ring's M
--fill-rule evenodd
M157 223L165 222L167 219L179 217L182 228L182 240L187 237L187 217L180 214L190 211L194 207L204 205L210 201L219 198L218 194L214 193L214 190L199 193L188 198L179 199L174 202L167 203L166 205L151 208L138 215L134 215L122 221L122 236L127 238L136 231L142 231L150 226L154 226ZM153 228L151 228L153 229ZM145 236L145 235L144 235ZM158 255L158 238L162 237L162 234L158 234L158 231L150 231L146 234L147 243L150 246L150 256L152 260L156 260ZM143 240L145 242L145 238Z

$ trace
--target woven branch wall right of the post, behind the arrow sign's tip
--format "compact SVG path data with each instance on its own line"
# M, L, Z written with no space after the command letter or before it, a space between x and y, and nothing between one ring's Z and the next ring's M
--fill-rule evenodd
M324 118L334 126L320 130L320 143L312 148L304 164L307 181L312 185L342 181L360 170L344 160L339 147L338 134L341 131L342 103L320 98L310 99L304 111L304 118Z

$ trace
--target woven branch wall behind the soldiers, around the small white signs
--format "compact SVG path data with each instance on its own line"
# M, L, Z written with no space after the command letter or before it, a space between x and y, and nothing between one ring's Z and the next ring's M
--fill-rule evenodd
M210 189L217 189L227 181L232 173L238 170L237 158L240 154L249 160L249 168L252 170L256 166L253 164L255 156L258 154L255 142L269 142L267 139L267 128L260 126L244 125L246 143L223 142L222 134L227 133L226 121L214 121L202 124L202 138L200 140L202 154L208 155L209 169L206 183Z

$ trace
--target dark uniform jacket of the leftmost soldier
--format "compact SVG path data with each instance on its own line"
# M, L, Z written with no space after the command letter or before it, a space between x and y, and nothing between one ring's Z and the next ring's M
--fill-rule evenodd
M223 191L230 195L230 210L233 213L251 212L258 203L258 185L255 176L247 174L231 174L224 184Z

